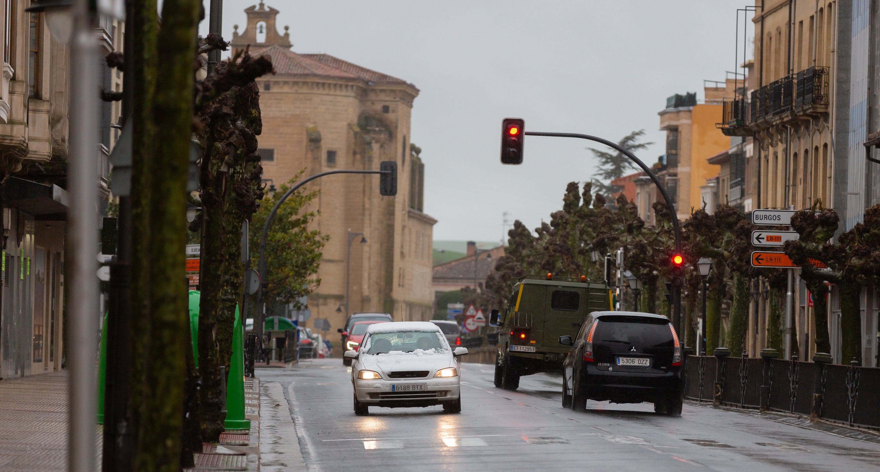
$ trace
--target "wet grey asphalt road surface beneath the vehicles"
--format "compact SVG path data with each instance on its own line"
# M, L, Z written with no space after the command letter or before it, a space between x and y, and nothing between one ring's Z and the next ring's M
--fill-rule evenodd
M495 388L493 366L462 365L462 412L352 410L348 367L313 359L263 368L279 382L310 470L878 470L880 444L753 415L685 404L681 418L650 403L561 407L561 377Z

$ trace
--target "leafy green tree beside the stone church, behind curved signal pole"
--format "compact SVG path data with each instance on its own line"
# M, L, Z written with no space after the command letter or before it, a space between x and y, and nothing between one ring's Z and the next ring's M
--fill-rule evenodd
M300 171L287 184L281 185L277 192L268 194L260 201L260 208L253 214L251 226L251 247L260 247L260 233L266 223L269 212L275 207L278 199L290 189L290 185L300 180L304 171ZM299 299L311 294L320 285L316 277L322 250L330 236L322 235L317 229L309 229L317 215L314 211L305 211L309 203L318 196L318 192L307 192L300 188L293 192L275 214L269 226L266 239L266 268L268 273L267 301L293 303L297 309L304 309ZM251 252L252 265L257 266L260 257L258 251Z

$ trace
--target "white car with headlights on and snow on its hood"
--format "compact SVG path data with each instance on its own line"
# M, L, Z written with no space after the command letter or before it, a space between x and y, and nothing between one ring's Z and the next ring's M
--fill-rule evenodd
M425 407L442 404L444 411L461 411L458 356L443 331L428 322L370 324L361 349L346 351L352 359L355 414L371 406Z

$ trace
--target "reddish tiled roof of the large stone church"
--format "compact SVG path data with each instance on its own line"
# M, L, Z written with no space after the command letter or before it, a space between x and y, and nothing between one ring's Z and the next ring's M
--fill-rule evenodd
M330 54L298 54L276 45L253 49L251 54L268 54L272 58L275 73L281 76L323 76L360 79L375 84L407 84L397 77L342 61Z

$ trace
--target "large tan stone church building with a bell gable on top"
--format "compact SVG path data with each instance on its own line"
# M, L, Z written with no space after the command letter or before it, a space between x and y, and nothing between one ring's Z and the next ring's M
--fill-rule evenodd
M410 142L419 90L329 54L292 52L289 28L277 33L277 10L260 3L245 12L244 31L238 33L236 25L232 34L233 50L250 45L252 54L268 54L275 65L275 75L257 80L260 154L268 185L278 187L302 170L309 176L398 163L396 197L379 195L378 175L335 175L308 185L320 191L310 208L319 211L315 228L331 238L321 260L321 284L308 299L312 317L305 325L322 318L335 331L347 312L363 311L391 313L395 321L429 320L436 220L422 211L425 167L421 149Z

